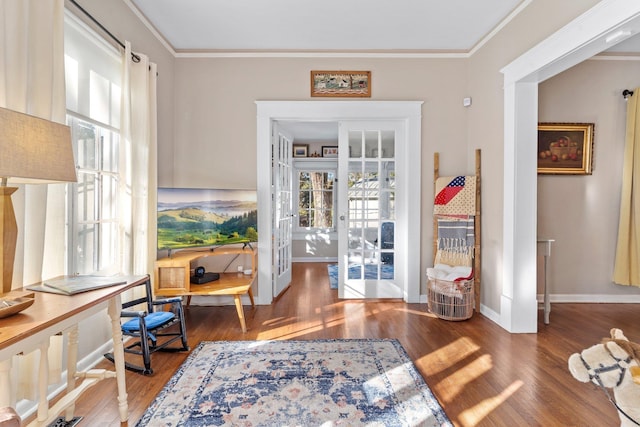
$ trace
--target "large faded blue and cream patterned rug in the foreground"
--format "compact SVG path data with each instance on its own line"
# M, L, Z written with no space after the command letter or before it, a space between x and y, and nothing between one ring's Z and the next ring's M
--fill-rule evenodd
M394 339L202 342L137 426L453 426Z

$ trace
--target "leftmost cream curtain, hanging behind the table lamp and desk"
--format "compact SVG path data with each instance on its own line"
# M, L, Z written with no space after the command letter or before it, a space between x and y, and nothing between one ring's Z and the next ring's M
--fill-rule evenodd
M65 123L64 0L0 0L0 24L0 106ZM13 288L64 273L64 203L64 184L21 185L13 194ZM58 374L60 356L52 356ZM30 356L14 362L26 387L12 398L35 397L36 362Z

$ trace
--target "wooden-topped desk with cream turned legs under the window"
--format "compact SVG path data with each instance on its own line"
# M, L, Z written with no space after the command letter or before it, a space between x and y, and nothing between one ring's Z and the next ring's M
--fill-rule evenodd
M75 401L89 387L105 378L116 378L118 390L118 410L120 421L129 418L127 388L124 370L124 349L122 330L120 329L120 294L127 289L144 283L148 276L125 276L127 283L83 292L73 296L50 294L45 292L16 289L11 294L34 293L33 305L13 316L0 319L0 406L15 405L15 391L9 379L11 359L14 355L30 353L39 349L46 354L49 337L58 333L69 334L67 348L67 379L78 378L82 382L67 380L66 394L53 406L47 400L49 365L47 357L40 357L38 374L38 410L37 418L30 426L48 425L65 412L66 419L73 417ZM111 319L113 336L113 354L115 372L104 369L92 369L77 372L78 323L89 316L107 309Z

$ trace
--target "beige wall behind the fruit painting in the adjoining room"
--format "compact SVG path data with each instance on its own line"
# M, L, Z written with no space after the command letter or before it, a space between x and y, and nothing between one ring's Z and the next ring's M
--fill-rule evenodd
M549 283L558 299L640 293L611 280L626 122L621 94L639 76L637 59L589 60L540 85L541 122L595 124L592 175L538 176L538 234L556 239Z

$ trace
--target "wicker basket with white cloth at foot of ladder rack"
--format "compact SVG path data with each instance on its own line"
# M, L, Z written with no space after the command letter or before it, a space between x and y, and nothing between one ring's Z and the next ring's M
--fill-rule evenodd
M473 315L473 280L431 279L428 286L429 311L444 320L466 320Z

